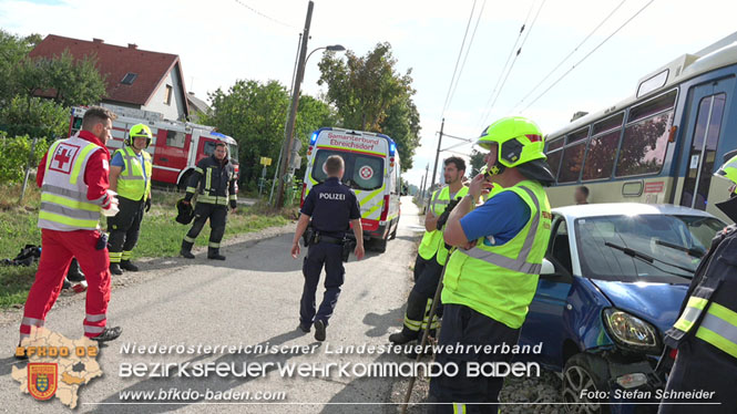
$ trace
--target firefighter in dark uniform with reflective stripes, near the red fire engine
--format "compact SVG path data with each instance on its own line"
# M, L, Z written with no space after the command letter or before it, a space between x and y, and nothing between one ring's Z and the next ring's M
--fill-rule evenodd
M225 256L221 255L221 240L225 234L228 204L232 213L235 213L236 208L235 179L235 168L228 161L227 146L223 142L217 142L213 155L201 159L190 178L183 203L191 203L197 188L199 194L194 209L194 224L182 240L180 255L194 259L192 246L209 218L207 258L225 260Z

